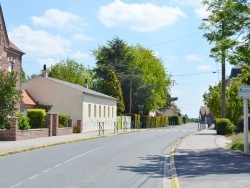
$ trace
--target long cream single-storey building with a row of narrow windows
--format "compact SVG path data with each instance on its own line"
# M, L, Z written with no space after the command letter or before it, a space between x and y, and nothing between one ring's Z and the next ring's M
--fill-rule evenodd
M52 105L51 113L66 113L73 119L82 120L84 130L98 130L99 122L105 129L114 127L117 114L117 99L70 82L35 77L22 84L40 104Z

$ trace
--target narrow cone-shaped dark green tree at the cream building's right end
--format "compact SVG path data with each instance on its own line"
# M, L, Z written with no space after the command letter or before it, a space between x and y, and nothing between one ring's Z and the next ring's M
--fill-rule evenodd
M121 83L118 80L114 71L110 70L106 80L106 92L107 95L117 98L117 115L121 115L125 111L125 105L123 101L123 93Z

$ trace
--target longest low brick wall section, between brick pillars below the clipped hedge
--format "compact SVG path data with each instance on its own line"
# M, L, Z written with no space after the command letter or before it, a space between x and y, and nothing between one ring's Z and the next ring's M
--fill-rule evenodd
M49 129L29 129L29 130L18 130L16 140L28 140L40 137L48 137Z

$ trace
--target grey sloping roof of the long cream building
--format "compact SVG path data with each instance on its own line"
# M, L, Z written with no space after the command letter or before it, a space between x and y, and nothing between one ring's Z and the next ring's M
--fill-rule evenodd
M77 85L77 84L73 84L73 83L70 83L70 82L66 82L66 81L63 81L63 80L58 80L58 79L50 78L50 77L44 77L44 78L49 79L49 80L51 80L53 82L57 82L57 83L69 86L69 87L74 88L76 90L82 91L83 93L87 93L87 94L90 94L90 95L96 95L96 96L104 97L104 98L108 98L108 99L115 99L115 100L117 100L114 97L111 97L109 95L105 95L103 93L94 91L92 89L88 89L86 87L83 87L83 86L80 86L80 85Z

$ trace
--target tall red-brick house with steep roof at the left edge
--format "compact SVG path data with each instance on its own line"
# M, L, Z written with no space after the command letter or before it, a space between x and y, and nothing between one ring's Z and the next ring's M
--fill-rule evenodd
M0 5L0 71L16 71L18 74L17 87L21 84L22 52L9 40L5 26L2 7Z

